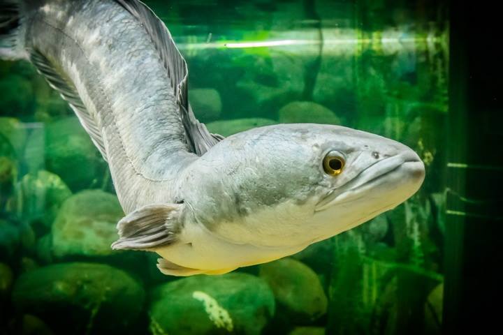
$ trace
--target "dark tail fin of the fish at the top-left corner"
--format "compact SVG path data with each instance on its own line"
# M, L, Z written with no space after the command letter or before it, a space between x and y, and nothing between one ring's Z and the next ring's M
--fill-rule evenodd
M22 0L0 0L0 59L27 59Z

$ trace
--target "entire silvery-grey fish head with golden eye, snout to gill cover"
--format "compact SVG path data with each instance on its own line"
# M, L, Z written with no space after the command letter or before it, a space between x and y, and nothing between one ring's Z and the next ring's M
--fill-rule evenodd
M308 245L393 209L425 170L413 150L379 135L281 124L227 137L189 174L198 221L238 243L279 246Z

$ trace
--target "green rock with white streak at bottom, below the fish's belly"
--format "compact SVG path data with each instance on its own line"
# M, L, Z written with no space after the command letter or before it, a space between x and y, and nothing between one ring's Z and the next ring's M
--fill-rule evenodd
M152 334L261 334L275 311L268 285L249 274L192 276L152 292Z

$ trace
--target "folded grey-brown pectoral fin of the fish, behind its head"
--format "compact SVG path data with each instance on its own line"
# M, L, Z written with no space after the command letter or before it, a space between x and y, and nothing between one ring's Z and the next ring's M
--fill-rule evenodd
M119 239L112 248L149 250L173 244L182 229L183 204L147 204L117 223Z

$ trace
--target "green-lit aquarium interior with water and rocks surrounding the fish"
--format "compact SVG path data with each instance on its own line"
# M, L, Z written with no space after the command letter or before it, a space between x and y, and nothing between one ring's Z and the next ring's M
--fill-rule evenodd
M187 60L191 107L212 133L357 128L414 149L423 186L287 258L166 276L154 253L110 248L124 212L68 104L29 62L0 61L0 334L462 334L468 324L485 334L498 325L503 76L493 10L432 0L145 3Z

